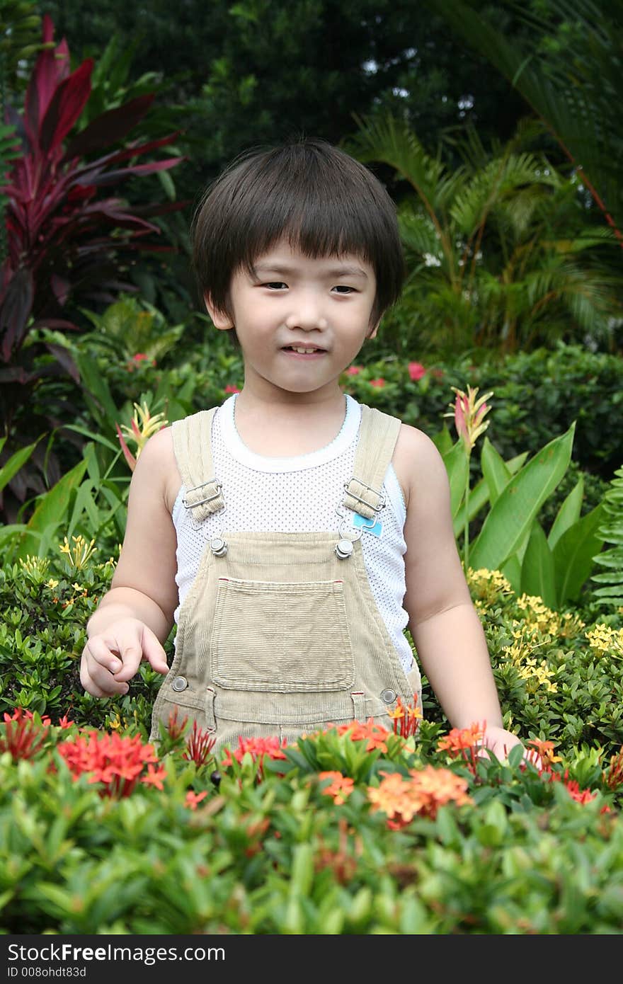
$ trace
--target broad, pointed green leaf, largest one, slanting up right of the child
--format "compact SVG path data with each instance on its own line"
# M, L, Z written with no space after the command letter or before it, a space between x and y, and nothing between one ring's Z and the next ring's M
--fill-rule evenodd
M495 571L520 547L539 509L569 467L576 429L554 438L514 475L485 518L470 552L474 570Z

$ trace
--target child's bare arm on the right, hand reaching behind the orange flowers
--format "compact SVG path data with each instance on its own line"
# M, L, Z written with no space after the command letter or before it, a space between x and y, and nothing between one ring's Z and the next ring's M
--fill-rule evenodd
M505 731L486 639L457 549L446 466L432 441L403 426L395 465L406 491L405 610L428 681L453 727L486 722L502 758L520 739Z

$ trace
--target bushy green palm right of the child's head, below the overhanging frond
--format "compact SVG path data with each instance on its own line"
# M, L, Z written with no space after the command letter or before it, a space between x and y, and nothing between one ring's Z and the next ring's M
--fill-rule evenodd
M468 131L454 168L441 152L428 154L405 121L357 123L348 152L389 165L409 187L399 207L409 274L394 323L398 350L514 351L607 335L616 303L596 247L613 233L587 224L577 180L522 150L530 128L492 152ZM386 338L388 329L391 320Z

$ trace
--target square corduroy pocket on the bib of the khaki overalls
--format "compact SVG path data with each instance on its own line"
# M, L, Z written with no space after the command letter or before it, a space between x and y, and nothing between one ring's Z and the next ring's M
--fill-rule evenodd
M229 690L347 690L354 660L341 581L219 578L212 678Z

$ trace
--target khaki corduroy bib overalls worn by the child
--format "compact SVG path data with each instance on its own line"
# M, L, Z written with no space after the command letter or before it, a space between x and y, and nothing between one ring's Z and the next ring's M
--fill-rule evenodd
M195 520L223 510L227 490L214 475L215 410L172 425L185 487L183 505ZM278 737L288 744L310 733L373 717L392 729L397 697L421 708L415 667L405 674L373 598L352 510L374 523L401 422L368 406L353 477L344 485L343 515L327 532L227 532L202 555L180 608L176 652L156 697L159 720L197 720L222 745L238 737ZM363 535L366 535L365 533Z

